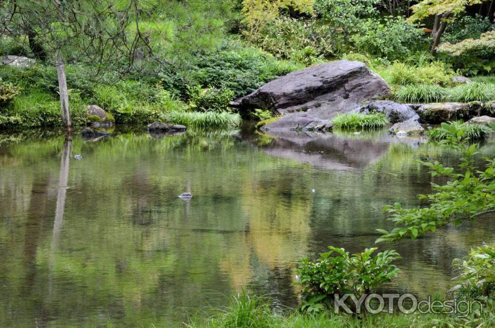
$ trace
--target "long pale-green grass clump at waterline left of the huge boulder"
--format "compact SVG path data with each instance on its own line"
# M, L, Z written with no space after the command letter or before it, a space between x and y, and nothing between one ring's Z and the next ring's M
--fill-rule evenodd
M171 110L160 115L161 119L175 124L200 128L234 128L241 125L239 114L226 111L180 111Z

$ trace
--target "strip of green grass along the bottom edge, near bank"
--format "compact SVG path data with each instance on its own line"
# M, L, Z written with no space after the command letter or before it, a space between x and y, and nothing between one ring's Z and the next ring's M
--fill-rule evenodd
M245 290L235 296L222 309L211 309L202 315L196 314L186 324L189 328L362 328L362 327L476 327L484 323L493 327L495 323L495 302L489 298L481 315L470 314L465 318L443 314L404 315L401 313L378 315L363 314L352 316L323 312L316 315L304 314L294 309L271 309L269 299L249 295Z

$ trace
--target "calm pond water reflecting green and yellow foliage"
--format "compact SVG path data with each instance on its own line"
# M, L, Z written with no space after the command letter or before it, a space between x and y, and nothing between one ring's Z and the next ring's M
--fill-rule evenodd
M180 325L243 286L296 306L299 258L362 251L392 226L384 205L420 205L416 159L459 154L386 131L0 134L0 326ZM381 245L403 257L385 289L443 294L490 219Z

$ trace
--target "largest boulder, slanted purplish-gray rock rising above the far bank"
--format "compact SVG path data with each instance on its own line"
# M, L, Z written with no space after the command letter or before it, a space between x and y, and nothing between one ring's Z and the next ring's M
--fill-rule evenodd
M295 115L289 126L297 120L302 126L307 116L301 112L307 112L315 119L327 120L337 113L355 109L363 101L389 94L387 82L364 63L339 60L276 78L231 105L239 109L270 109L284 116ZM278 124L285 120L289 119L281 119ZM271 128L272 124L266 128Z

